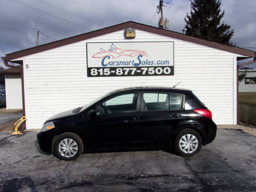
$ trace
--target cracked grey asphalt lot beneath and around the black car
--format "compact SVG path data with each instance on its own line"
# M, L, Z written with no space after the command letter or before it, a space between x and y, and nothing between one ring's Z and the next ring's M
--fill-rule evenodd
M60 161L35 132L0 133L0 191L256 191L256 137L218 130L193 157L169 151L83 154Z

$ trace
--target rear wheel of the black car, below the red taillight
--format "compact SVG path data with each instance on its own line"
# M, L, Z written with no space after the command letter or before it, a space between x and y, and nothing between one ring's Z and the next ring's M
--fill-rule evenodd
M181 130L174 141L175 151L183 157L193 156L200 151L202 147L202 138L194 130Z

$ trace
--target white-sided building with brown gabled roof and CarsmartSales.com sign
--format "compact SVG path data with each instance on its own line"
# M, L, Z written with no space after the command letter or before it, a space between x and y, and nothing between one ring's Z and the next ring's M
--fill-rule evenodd
M125 38L127 28L135 38ZM39 129L50 116L111 90L179 82L205 103L215 123L236 124L237 60L251 57L255 52L129 21L3 60L23 65L26 126Z

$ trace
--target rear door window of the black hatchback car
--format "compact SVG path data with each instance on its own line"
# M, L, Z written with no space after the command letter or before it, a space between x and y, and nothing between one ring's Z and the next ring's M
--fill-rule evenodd
M143 110L168 110L169 99L167 93L143 93Z

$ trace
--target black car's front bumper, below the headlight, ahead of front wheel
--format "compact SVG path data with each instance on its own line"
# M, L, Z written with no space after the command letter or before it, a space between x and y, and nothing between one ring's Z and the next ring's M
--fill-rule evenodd
M48 131L37 133L37 142L39 144L39 148L44 152L51 153L52 139L53 135Z

